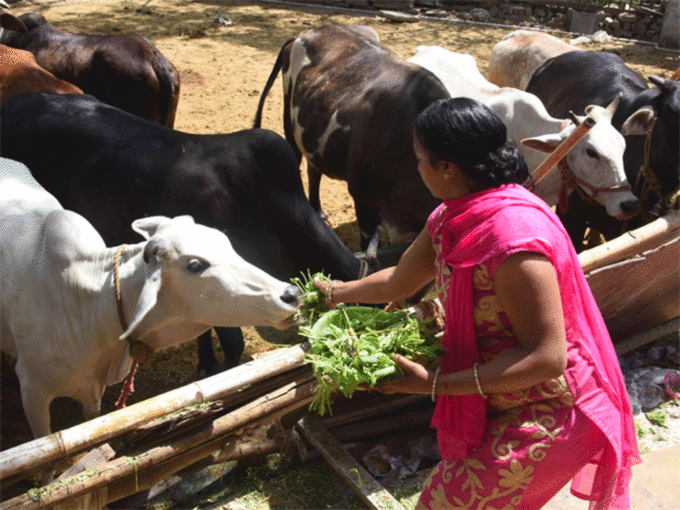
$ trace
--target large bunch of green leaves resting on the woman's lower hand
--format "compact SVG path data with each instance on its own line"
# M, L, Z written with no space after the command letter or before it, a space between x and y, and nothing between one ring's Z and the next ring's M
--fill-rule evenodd
M341 306L321 314L312 326L301 326L309 341L306 361L319 381L310 410L331 412L336 390L351 397L360 386L398 377L395 353L425 363L439 357L439 342L424 331L406 311L366 306Z

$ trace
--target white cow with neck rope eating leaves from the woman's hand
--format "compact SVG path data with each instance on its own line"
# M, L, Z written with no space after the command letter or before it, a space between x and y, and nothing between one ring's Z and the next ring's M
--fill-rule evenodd
M126 339L162 349L212 326L290 325L297 287L245 262L218 230L190 216L149 217L132 228L146 241L123 249L120 295L114 256L82 216L64 210L21 163L0 158L0 345L16 358L34 437L50 433L59 396L99 415L107 385L132 358Z

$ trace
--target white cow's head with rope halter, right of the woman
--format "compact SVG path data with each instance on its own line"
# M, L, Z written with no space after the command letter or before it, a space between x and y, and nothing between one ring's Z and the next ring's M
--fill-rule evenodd
M626 142L614 129L611 120L618 99L607 108L591 105L586 108L596 124L567 154L567 165L584 184L580 187L607 209L607 214L620 220L630 218L640 211L640 202L630 189L623 166ZM577 117L578 122L583 118ZM522 140L527 147L542 152L552 152L576 129L565 123L559 133ZM555 171L555 170L554 170Z

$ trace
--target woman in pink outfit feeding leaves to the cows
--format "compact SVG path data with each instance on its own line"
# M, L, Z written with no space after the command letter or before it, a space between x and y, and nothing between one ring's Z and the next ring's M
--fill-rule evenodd
M394 302L436 281L441 364L395 356L385 393L436 398L442 461L418 509L539 509L569 480L591 509L630 507L640 462L618 360L557 216L520 183L501 120L447 99L416 120L418 171L443 203L396 267L317 281L333 303Z

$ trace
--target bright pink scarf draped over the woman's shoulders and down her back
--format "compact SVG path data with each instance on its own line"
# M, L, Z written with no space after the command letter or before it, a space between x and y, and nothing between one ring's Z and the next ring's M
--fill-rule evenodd
M627 494L631 466L640 462L635 425L618 359L567 233L553 211L519 185L484 190L439 206L428 232L441 239L439 263L451 269L446 299L442 371L479 362L472 320L472 269L518 251L545 255L556 269L567 340L587 360L565 373L575 405L604 433L608 445L574 478L572 492L598 502ZM589 398L593 381L602 398ZM586 384L586 382L588 384ZM612 419L615 416L616 419ZM432 426L445 460L463 459L481 444L486 405L479 395L440 397Z

